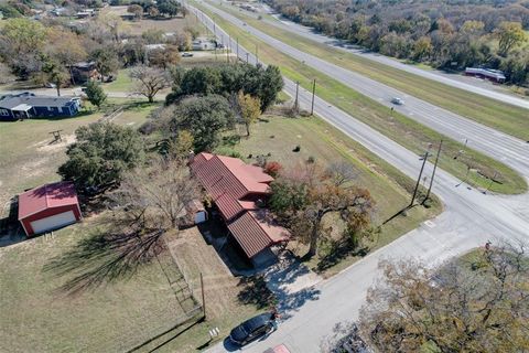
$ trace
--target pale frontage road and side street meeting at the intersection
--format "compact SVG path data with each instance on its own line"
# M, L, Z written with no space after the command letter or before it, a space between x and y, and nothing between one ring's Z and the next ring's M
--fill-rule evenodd
M195 13L199 10L187 6ZM213 30L213 21L199 15L203 23ZM228 34L216 26L218 39ZM239 46L239 57L256 64L256 57ZM295 84L284 79L284 89L295 95ZM311 107L311 93L300 88L300 106ZM343 110L315 97L314 113L364 145L412 179L417 179L422 161L420 158L369 126L356 120ZM433 165L427 163L424 173L430 175ZM528 174L526 174L527 176ZM367 289L378 278L380 259L420 258L432 266L490 240L529 243L529 194L505 196L488 195L469 188L456 178L438 169L435 194L444 203L444 212L424 222L397 240L371 253L355 265L324 280L313 288L287 296L279 308L284 320L279 329L262 341L244 347L244 352L263 352L269 347L285 344L290 352L320 352L321 341L333 332L338 322L354 321L365 303ZM227 334L231 328L219 328ZM224 342L209 352L233 351Z

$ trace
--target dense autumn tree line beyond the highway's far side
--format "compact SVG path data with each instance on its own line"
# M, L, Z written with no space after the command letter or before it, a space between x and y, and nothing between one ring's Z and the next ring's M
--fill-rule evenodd
M434 67L503 69L529 82L529 2L268 0L284 17L385 55Z

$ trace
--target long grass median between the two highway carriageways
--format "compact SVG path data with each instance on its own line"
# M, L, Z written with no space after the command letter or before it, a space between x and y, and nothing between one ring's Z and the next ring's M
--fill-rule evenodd
M527 109L496 99L489 99L435 81L425 79L419 75L384 65L359 55L346 53L331 45L317 43L302 35L282 30L266 21L246 15L244 12L238 11L238 8L223 6L222 9L246 21L251 26L303 52L324 58L341 67L357 72L522 140L529 140L529 129L527 128L529 125L529 113Z

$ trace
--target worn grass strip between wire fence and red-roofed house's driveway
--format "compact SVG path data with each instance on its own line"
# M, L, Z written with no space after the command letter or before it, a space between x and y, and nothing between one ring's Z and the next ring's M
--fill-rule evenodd
M217 252L206 244L196 227L181 232L169 242L169 247L190 279L197 298L201 296L199 274L203 274L207 320L192 327L184 334L164 335L145 346L145 350L158 347L156 352L160 353L201 351L227 336L240 322L269 309L264 296L253 292L251 284L231 276ZM219 338L207 345L208 331L213 328L219 329Z

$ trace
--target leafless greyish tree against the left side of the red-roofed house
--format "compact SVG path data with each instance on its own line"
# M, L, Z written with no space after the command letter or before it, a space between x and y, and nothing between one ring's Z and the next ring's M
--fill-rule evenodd
M128 223L143 229L177 228L186 207L197 197L197 183L185 164L164 159L127 174L111 194L127 211Z

